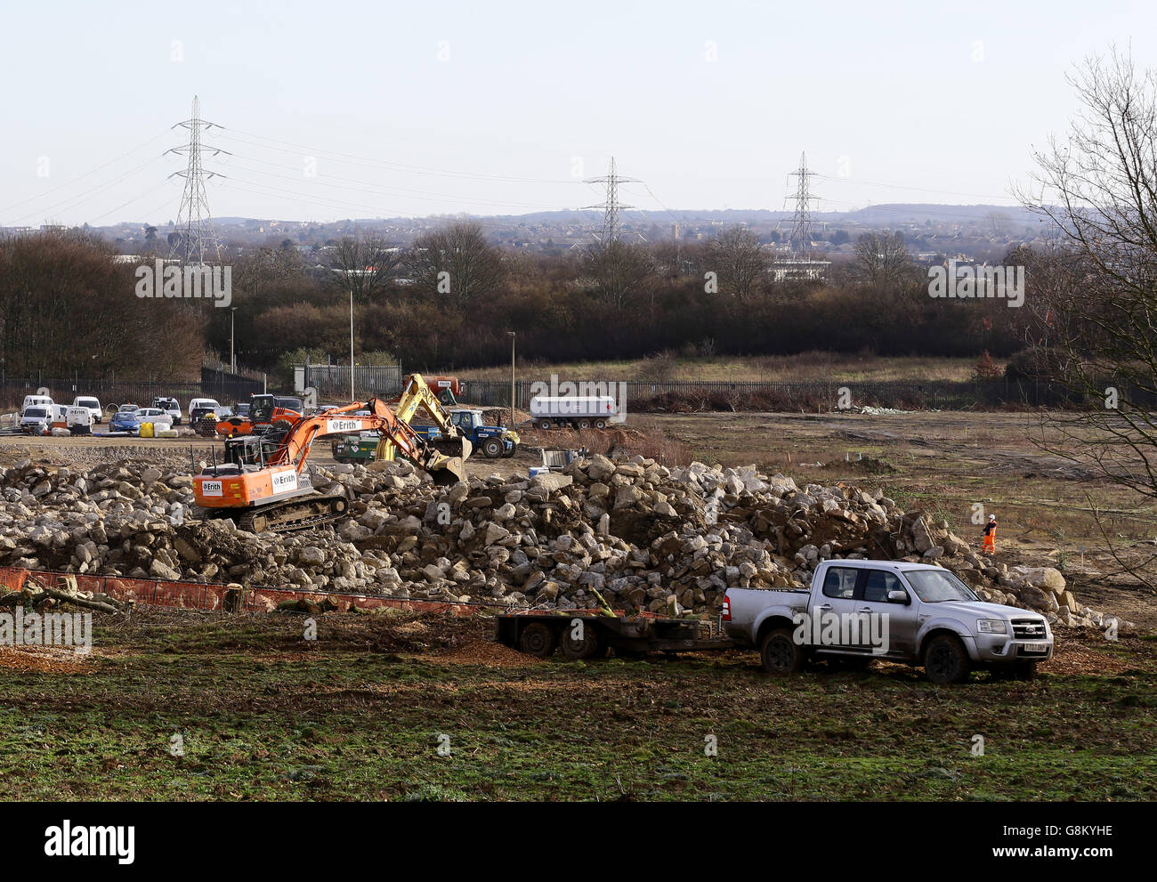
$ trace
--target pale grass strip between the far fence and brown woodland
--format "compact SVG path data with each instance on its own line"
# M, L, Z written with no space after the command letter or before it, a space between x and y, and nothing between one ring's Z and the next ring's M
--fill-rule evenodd
M975 359L882 358L832 352L750 358L684 358L671 353L627 361L589 361L561 365L519 361L516 366L516 375L519 380L536 380L548 374L558 374L561 380L606 382L621 380L744 380L751 382L921 380L936 382L970 380L975 363ZM997 365L1001 368L1004 367L1002 362L997 362ZM463 380L509 381L510 365L464 368L458 370L457 375Z

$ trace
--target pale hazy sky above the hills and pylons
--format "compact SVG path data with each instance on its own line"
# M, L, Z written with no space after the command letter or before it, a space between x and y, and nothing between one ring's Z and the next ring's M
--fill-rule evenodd
M8 3L0 225L168 223L199 96L214 216L332 221L622 203L815 211L1015 205L1113 44L1157 5Z

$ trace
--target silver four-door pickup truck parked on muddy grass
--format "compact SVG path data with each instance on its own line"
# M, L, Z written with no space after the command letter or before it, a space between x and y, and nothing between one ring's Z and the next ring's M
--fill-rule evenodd
M974 667L1029 678L1053 655L1040 613L985 603L942 567L890 560L824 561L810 589L729 588L723 626L758 648L771 674L802 670L810 657L886 659L922 664L933 683L960 683Z

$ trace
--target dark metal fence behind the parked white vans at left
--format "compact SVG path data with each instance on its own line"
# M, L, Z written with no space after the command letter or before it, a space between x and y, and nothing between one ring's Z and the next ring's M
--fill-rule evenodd
M139 404L148 406L154 398L176 398L187 409L190 398L215 398L226 402L248 400L250 395L261 392L265 383L260 380L230 374L224 370L201 369L201 381L165 380L149 376L143 380L118 380L106 377L12 377L0 375L0 409L20 407L24 396L35 395L37 389L47 389L57 403L72 403L76 396L93 396L101 404Z

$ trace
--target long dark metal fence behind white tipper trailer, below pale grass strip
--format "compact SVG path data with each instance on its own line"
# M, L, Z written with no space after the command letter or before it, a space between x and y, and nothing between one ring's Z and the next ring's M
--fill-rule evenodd
M530 410L533 385L535 381L530 380L515 382L516 407ZM613 388L620 387L614 384ZM897 410L971 410L1005 406L1081 407L1096 404L1083 400L1081 395L1061 383L1003 377L985 382L626 381L622 388L628 412L833 410L845 405ZM1144 390L1120 389L1120 397L1137 406L1157 407L1157 396ZM467 380L464 382L462 398L470 404L509 407L510 383L502 380Z

